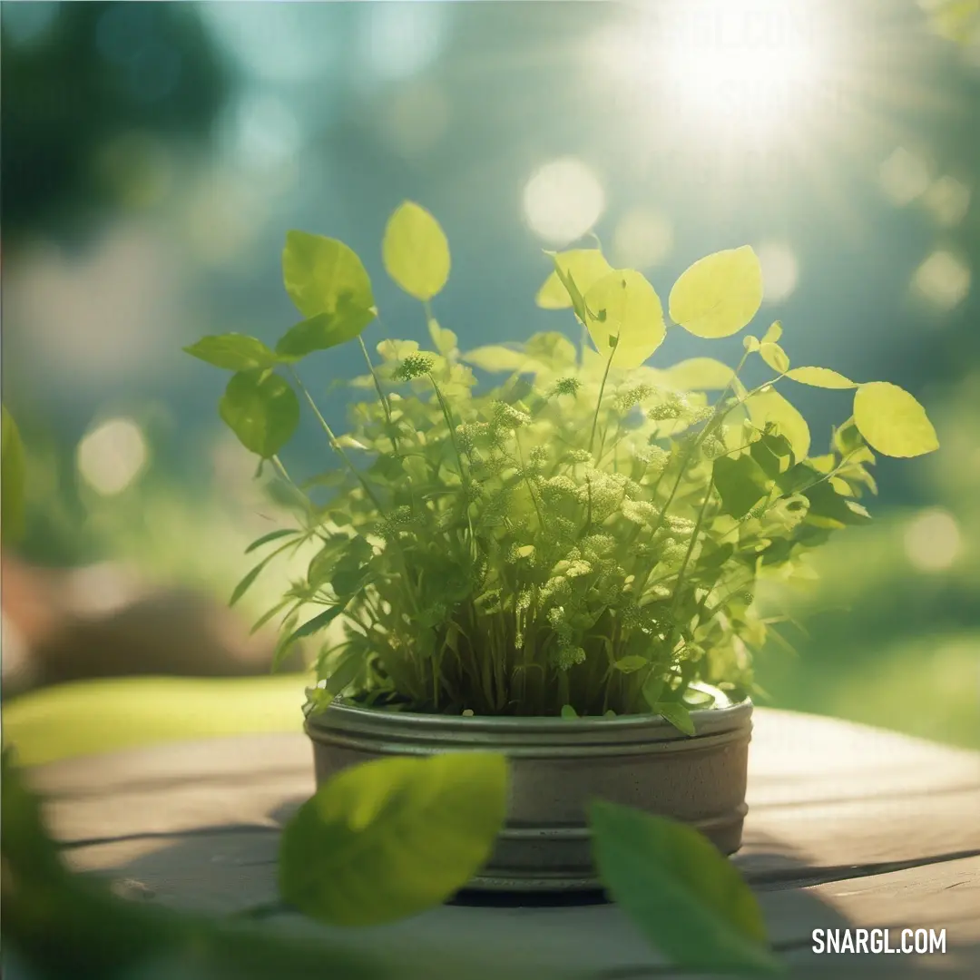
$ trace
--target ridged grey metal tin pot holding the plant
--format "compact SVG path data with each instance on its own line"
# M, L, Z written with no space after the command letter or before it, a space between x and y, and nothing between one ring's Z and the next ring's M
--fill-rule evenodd
M739 849L752 703L722 701L691 716L697 734L689 737L660 715L467 717L380 711L338 699L311 715L306 731L318 785L384 756L504 753L511 763L507 822L468 887L580 891L599 887L585 815L593 798L683 820L724 854Z

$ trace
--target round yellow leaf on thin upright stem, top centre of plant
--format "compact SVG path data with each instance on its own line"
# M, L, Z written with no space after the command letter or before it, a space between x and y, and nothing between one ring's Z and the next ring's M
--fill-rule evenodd
M605 275L585 294L586 325L596 349L617 368L639 368L666 336L663 308L654 287L639 272Z

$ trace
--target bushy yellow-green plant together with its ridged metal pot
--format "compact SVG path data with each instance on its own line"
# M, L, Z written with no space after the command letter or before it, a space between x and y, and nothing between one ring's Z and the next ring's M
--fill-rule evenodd
M661 300L599 248L550 253L537 298L573 311L577 347L546 332L461 353L431 312L450 271L438 222L403 204L382 252L422 304L424 346L383 339L372 355L363 333L377 310L360 259L291 231L285 287L305 319L274 350L238 334L187 349L234 371L221 417L297 502L296 526L253 544L269 552L233 601L276 555L318 545L261 620L282 618L279 660L306 637L332 637L307 705L318 780L393 754L505 753L508 818L476 887L594 887L594 797L737 850L751 654L767 625L756 582L806 578L812 548L868 519L859 498L875 490L874 452L937 447L925 412L886 382L792 368L779 323L746 337L734 367L651 365L667 330ZM746 246L686 270L668 314L698 337L727 337L761 300ZM298 365L345 342L367 370L338 435ZM750 367L765 371L760 383L744 380ZM505 379L484 390L473 368ZM807 422L782 393L794 384L854 389L826 453L811 455ZM336 466L294 483L278 453L301 401Z

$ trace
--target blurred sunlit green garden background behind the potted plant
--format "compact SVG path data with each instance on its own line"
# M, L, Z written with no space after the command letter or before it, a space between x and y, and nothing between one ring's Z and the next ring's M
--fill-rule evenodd
M533 296L542 249L592 230L662 295L694 259L751 243L760 317L783 321L795 363L915 394L941 451L883 462L874 524L829 546L807 591L760 596L793 619L758 662L763 703L980 747L980 4L0 13L3 399L28 452L26 533L5 556L8 701L7 662L44 611L91 615L112 605L107 592L123 604L127 576L225 602L274 506L221 430L221 379L180 348L228 330L273 341L293 322L279 274L293 227L355 248L388 328L420 335L379 247L387 216L413 198L449 235L436 315L464 348L574 332ZM706 351L671 334L658 357L695 353ZM337 424L344 396L329 384L359 370L356 354L337 351L315 382ZM838 395L801 396L814 443L846 416ZM285 461L302 474L324 452L311 426ZM12 562L47 576L28 590L33 618L21 590L11 596ZM111 585L71 572L106 567ZM288 575L270 575L238 614L243 636ZM165 617L143 633L193 662L190 634L172 629ZM140 661L138 629L121 635L123 669L128 656L134 672L163 672ZM86 636L73 656L94 662L103 641ZM262 677L261 654L255 668L172 671L254 678L81 670L70 687L34 685L8 706L6 737L46 760L297 728L303 681Z

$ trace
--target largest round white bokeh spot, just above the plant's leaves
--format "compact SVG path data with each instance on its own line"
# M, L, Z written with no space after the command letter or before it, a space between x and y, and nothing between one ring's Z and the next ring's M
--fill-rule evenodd
M598 177L580 160L564 157L539 168L524 186L524 220L554 245L580 238L599 220L606 195Z

